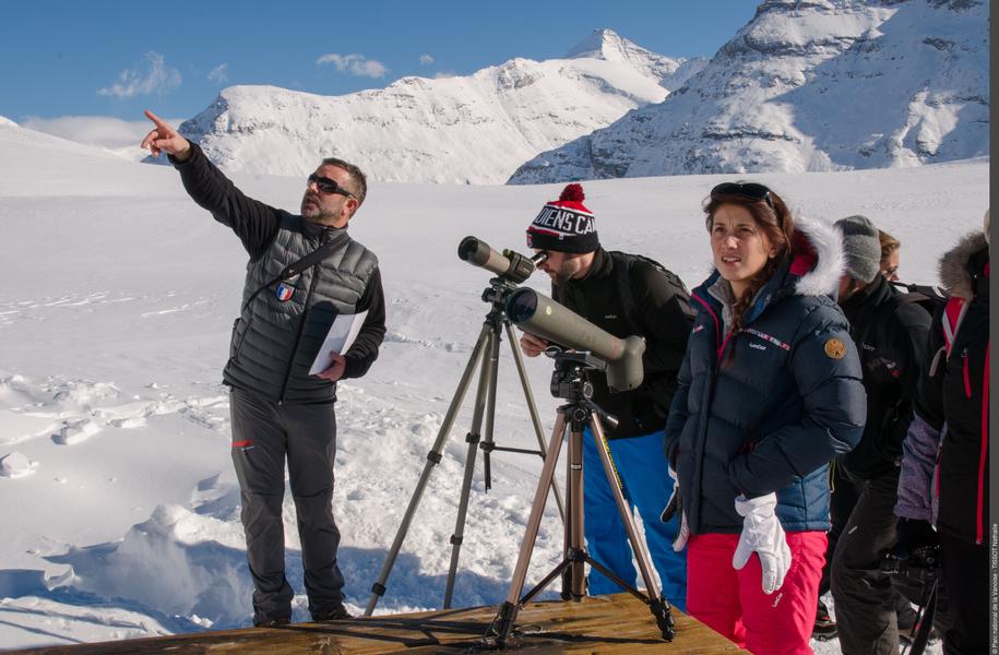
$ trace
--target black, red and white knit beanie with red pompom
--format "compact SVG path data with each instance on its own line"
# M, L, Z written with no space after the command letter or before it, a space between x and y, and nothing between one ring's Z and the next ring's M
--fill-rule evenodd
M569 184L542 209L527 228L527 248L557 252L593 252L600 242L593 213L583 206L581 184Z

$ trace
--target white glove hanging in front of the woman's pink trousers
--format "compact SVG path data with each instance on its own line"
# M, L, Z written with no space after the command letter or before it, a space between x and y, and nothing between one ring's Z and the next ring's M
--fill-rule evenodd
M742 534L732 558L732 565L741 569L756 552L763 569L763 593L772 594L784 584L784 576L790 569L790 548L784 536L784 528L774 514L777 495L768 493L752 500L745 496L736 498L736 511L742 516Z

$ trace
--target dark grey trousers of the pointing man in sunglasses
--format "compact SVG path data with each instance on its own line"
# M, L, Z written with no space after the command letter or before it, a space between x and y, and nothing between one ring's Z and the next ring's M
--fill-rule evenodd
M247 559L253 576L253 619L292 615L292 586L285 577L282 502L285 460L309 610L316 615L343 602L344 577L336 565L340 529L333 520L333 461L336 415L333 403L278 405L239 389L229 395L233 464L239 479Z

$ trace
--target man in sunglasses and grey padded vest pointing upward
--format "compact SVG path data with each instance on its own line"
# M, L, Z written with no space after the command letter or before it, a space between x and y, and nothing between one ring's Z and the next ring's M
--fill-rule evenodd
M365 374L385 334L378 259L347 236L365 200L364 174L341 159L323 160L309 176L301 214L294 215L246 196L198 145L145 114L155 128L142 147L167 153L194 202L231 228L250 255L223 379L231 389L231 454L255 586L253 623L292 619L282 521L286 460L309 611L317 621L347 618L332 507L336 382ZM288 270L313 252L321 257L314 264ZM309 374L334 318L362 311L354 345L323 354L330 366Z

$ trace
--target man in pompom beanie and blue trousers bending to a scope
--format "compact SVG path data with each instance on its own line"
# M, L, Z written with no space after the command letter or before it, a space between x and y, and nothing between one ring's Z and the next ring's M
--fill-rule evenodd
M547 203L527 228L527 247L546 252L538 267L551 277L551 297L617 337L645 337L641 386L610 393L604 372L591 373L593 401L615 416L616 429L605 426L608 445L632 511L645 525L652 562L663 593L680 610L686 608L687 561L673 549L676 519L659 521L673 483L663 461L663 429L676 389L677 372L687 350L693 322L682 282L655 262L604 250L593 214L583 205L580 184L569 184L559 200ZM537 357L550 344L530 333L521 348ZM588 429L583 439L583 524L590 555L634 586L635 570L625 526L604 475L599 453ZM591 595L625 591L596 570L588 576Z

